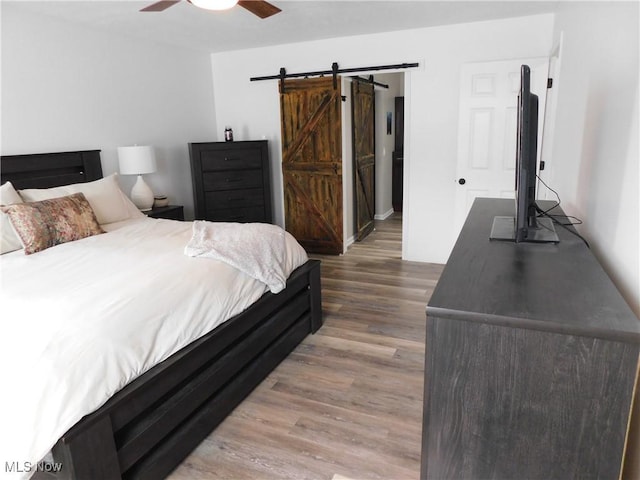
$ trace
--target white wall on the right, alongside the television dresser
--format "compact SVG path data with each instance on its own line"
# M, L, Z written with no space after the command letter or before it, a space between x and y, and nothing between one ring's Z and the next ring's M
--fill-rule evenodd
M639 4L563 3L552 186L640 317ZM624 478L640 479L640 399Z

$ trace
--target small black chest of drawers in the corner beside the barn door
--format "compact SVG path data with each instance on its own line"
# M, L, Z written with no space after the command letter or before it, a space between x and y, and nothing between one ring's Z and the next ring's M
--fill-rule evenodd
M190 143L195 218L273 221L266 140Z

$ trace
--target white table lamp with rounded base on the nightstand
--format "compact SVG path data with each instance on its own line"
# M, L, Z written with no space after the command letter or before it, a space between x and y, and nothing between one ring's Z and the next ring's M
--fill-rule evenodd
M156 171L156 157L153 147L138 146L118 147L118 163L122 175L138 175L131 189L131 201L143 212L153 206L153 192L142 175Z

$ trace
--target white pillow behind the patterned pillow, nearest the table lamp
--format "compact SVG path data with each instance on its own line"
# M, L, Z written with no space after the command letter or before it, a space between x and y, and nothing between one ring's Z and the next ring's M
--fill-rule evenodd
M74 183L73 185L53 188L30 188L19 191L25 202L38 202L80 192L87 198L100 225L132 218L133 213L130 205L128 205L131 201L120 190L116 173L93 182Z

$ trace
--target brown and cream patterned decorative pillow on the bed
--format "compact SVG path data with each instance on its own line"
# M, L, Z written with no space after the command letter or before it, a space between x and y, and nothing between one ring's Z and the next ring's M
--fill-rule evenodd
M104 233L82 193L2 207L30 255L54 245Z

